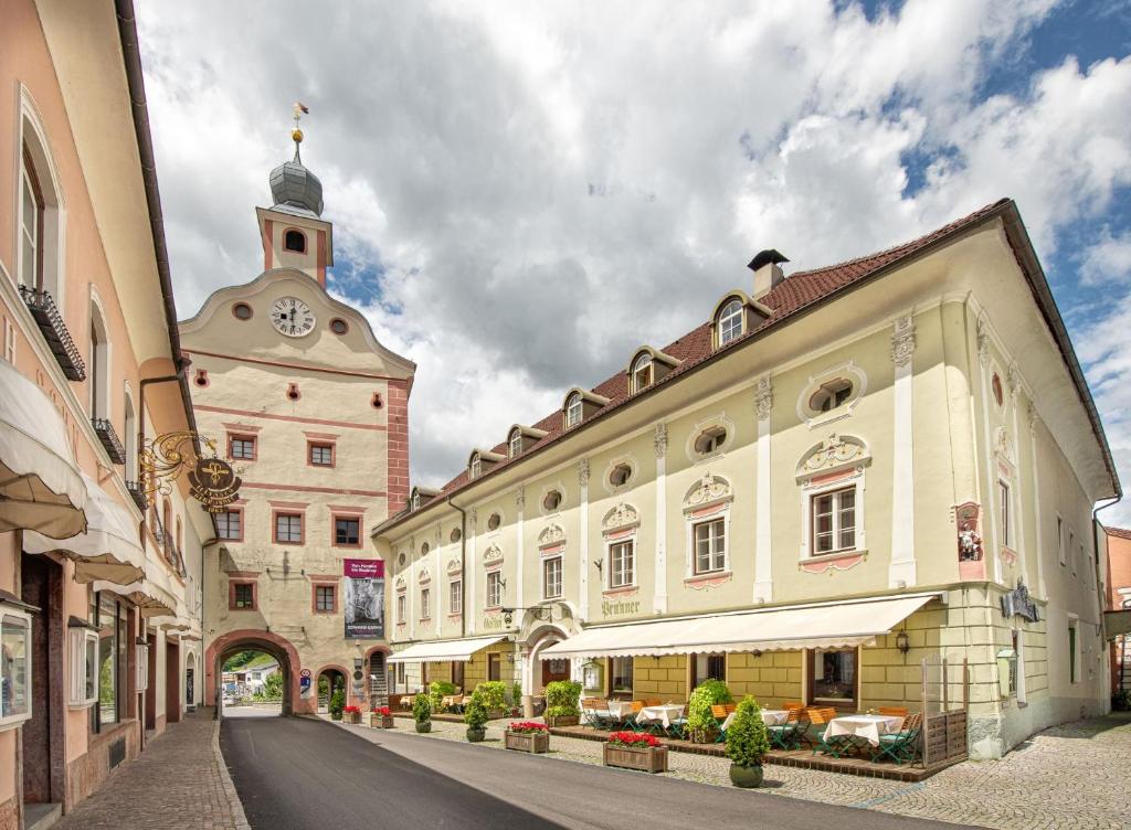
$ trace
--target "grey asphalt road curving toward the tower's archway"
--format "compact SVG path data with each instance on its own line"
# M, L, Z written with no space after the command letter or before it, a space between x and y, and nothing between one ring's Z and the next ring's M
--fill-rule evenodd
M225 718L221 749L253 830L959 827L308 718Z

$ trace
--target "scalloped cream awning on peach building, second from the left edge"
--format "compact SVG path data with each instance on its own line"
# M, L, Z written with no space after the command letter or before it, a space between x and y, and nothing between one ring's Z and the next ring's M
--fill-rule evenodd
M24 534L28 553L60 553L75 560L75 581L104 580L129 585L145 577L145 551L138 542L133 516L83 474L86 485L86 533L52 539L29 530Z

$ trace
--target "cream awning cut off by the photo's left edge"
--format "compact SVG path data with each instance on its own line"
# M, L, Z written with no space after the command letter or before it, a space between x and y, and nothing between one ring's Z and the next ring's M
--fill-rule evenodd
M0 533L74 536L86 529L85 505L62 416L35 383L0 360Z

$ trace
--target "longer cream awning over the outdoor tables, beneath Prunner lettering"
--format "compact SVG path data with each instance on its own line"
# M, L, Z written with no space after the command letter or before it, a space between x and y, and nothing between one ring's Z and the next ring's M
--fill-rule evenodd
M935 594L602 625L542 651L552 657L638 657L693 651L791 651L867 646Z

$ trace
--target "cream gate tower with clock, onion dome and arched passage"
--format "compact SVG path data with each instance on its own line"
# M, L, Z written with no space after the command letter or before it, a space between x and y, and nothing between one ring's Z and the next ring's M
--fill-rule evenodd
M285 714L314 711L322 676L349 703L385 694L383 638L346 636L344 562L377 562L365 528L406 501L415 371L327 294L333 226L295 139L257 209L264 271L180 328L197 421L242 478L207 550L207 699L226 657L259 648L282 667Z

